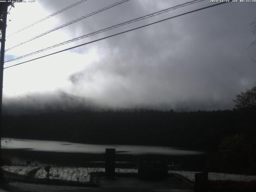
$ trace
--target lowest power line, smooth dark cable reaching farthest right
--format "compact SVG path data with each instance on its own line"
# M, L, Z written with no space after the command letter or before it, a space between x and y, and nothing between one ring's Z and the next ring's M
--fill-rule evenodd
M136 28L133 28L133 29L130 29L130 30L126 30L126 31L123 31L123 32L120 32L120 33L116 33L116 34L113 34L113 35L110 35L110 36L106 36L104 38L100 38L100 39L93 40L93 41L90 41L90 42L87 42L87 43L84 43L84 44L80 44L80 45L77 45L77 46L74 46L74 47L70 47L70 48L67 48L67 49L64 49L64 50L60 50L60 51L57 51L57 52L54 52L54 53L51 53L51 54L47 54L47 55L44 55L44 56L41 56L41 57L38 57L38 58L34 58L34 59L31 59L31 60L28 60L28 61L24 61L24 62L15 64L15 65L12 65L12 66L8 66L8 67L5 67L4 69L10 68L10 67L13 67L13 66L17 66L17 65L20 65L20 64L24 64L24 63L27 63L27 62L30 62L30 61L34 61L34 60L37 60L37 59L40 59L40 58L44 58L44 57L47 57L47 56L50 56L50 55L54 55L54 54L57 54L57 53L60 53L60 52L64 52L64 51L67 51L67 50L70 50L70 49L74 49L74 48L77 48L77 47L80 47L80 46L91 44L93 42L104 40L106 38L110 38L110 37L113 37L113 36L124 34L126 32L130 32L130 31L133 31L133 30L136 30L136 29L140 29L140 28L143 28L143 27L146 27L146 26L150 26L150 25L153 25L153 24L156 24L156 23L159 23L159 22L163 22L163 21L166 21L166 20L169 20L169 19L172 19L172 18L176 18L176 17L182 16L182 15L190 14L192 12L204 10L204 9L211 8L211 7L214 7L214 6L218 6L218 5L221 5L221 4L225 4L225 3L227 3L227 2L221 2L221 3L218 3L218 4L213 4L213 5L210 5L210 6L206 6L206 7L203 7L203 8L199 8L199 9L196 9L196 10L185 12L185 13L182 13L182 14L179 14L179 15L176 15L176 16L172 16L172 17L169 17L169 18L166 18L166 19L163 19L163 20L159 20L159 21L156 21L156 22L153 22L153 23L150 23L150 24L146 24L146 25L143 25L143 26L140 26L140 27L136 27Z

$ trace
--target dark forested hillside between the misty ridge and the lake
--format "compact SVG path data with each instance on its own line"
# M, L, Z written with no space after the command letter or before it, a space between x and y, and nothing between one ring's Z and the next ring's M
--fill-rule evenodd
M198 112L81 111L3 116L2 136L92 144L137 144L218 150L239 134L254 141L255 110Z

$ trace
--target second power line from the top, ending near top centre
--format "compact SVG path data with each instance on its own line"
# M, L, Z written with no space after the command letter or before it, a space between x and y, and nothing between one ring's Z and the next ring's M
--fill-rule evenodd
M80 17L80 18L77 18L77 19L75 19L75 20L72 20L72 21L70 21L70 22L68 22L68 23L66 23L66 24L63 24L63 25L58 26L58 27L56 27L56 28L53 28L53 29L51 29L51 30L49 30L49 31L46 31L46 32L42 33L42 34L39 34L39 35L37 35L37 36L34 36L33 38L30 38L29 40L26 40L26 41L24 41L24 42L22 42L22 43L20 43L20 44L17 44L17 45L15 45L15 46L11 47L11 48L8 48L8 49L6 49L5 51L8 51L8 50L10 50L10 49L12 49L12 48L15 48L15 47L17 47L17 46L20 46L20 45L22 45L22 44L25 44L25 43L27 43L27 42L30 42L30 41L32 41L32 40L34 40L34 39L37 39L37 38L39 38L39 37L42 37L42 36L44 36L44 35L46 35L46 34L48 34L48 33L50 33L50 32L53 32L53 31L56 31L56 30L58 30L58 29L60 29L60 28L66 27L66 26L68 26L68 25L70 25L70 24L73 24L73 23L75 23L75 22L78 22L78 21L80 21L80 20L82 20L82 19L85 19L85 18L87 18L87 17L90 17L90 16L92 16L92 15L94 15L94 14L97 14L97 13L99 13L99 12L102 12L102 11L104 11L104 10L110 9L110 8L112 8L112 7L114 7L114 6L120 5L120 4L122 4L122 3L124 3L124 2L127 2L127 1L130 1L130 0L122 0L122 1L120 1L120 2L116 2L116 3L114 3L114 4L110 5L110 6L104 7L104 8L102 8L102 9L100 9L100 10L94 11L94 12L92 12L92 13L90 13L90 14L87 14L87 15L85 15L85 16L82 16L82 17Z

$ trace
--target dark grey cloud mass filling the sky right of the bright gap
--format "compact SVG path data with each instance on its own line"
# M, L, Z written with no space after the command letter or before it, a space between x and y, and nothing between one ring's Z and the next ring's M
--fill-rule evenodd
M54 11L59 1L45 0ZM95 0L60 15L68 22L116 1ZM93 32L185 1L131 0L66 28L72 37ZM62 6L70 4L63 0ZM152 19L124 26L103 37L205 5L194 4ZM217 110L234 107L232 99L256 82L256 47L250 23L255 3L229 3L72 50L96 48L98 61L70 75L72 90L87 96L87 86L100 87L96 99L110 106L177 110ZM76 32L74 32L76 30ZM80 44L82 42L79 42ZM80 62L80 61L76 61Z

